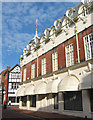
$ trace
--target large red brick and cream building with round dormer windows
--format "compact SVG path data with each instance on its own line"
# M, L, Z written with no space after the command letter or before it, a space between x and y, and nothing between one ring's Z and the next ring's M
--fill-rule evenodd
M24 48L20 109L93 118L93 2L69 8Z

